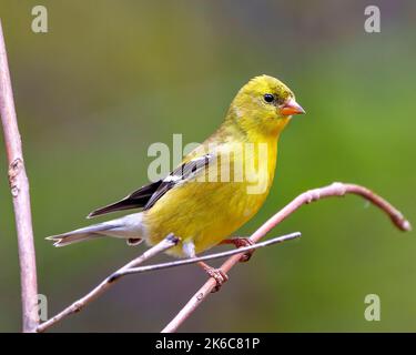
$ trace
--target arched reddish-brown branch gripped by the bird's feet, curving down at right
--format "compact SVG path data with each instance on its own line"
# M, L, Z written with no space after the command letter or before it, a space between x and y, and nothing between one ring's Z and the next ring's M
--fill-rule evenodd
M386 200L376 195L371 190L354 185L344 184L341 182L335 182L328 186L321 189L310 190L302 193L290 204L283 207L274 216L272 216L266 223L264 223L252 236L253 243L260 241L272 229L274 229L278 223L285 220L288 215L294 213L298 207L304 204L317 201L321 199L332 197L332 196L344 196L347 193L357 194L364 199L372 202L374 205L384 211L392 220L392 222L402 231L410 231L410 223L403 216L403 214L397 211L393 205L390 205ZM236 254L227 258L222 265L221 270L227 273L235 264L239 263L242 254ZM177 329L177 327L196 310L196 307L206 298L206 296L213 291L216 282L214 278L209 278L206 283L192 296L192 298L185 304L185 306L177 313L177 315L162 329L162 333L172 333Z

